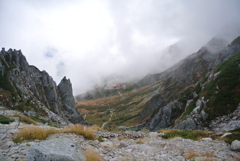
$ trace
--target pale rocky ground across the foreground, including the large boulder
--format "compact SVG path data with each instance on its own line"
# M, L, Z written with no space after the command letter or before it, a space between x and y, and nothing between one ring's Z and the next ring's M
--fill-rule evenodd
M240 156L240 149L236 149L240 147L239 143L233 147L233 143L230 146L223 140L212 140L209 137L198 141L180 137L169 140L162 137L163 133L157 132L96 132L102 138L102 142L86 140L81 135L59 133L50 135L46 139L47 142L31 140L14 143L12 136L24 127L22 123L19 127L16 125L16 122L9 125L0 124L0 159L5 161L30 161L34 157L38 160L79 160L79 155L83 156L86 149L93 149L94 153L91 155L99 154L105 161L235 161L239 160ZM220 135L223 136L223 133Z

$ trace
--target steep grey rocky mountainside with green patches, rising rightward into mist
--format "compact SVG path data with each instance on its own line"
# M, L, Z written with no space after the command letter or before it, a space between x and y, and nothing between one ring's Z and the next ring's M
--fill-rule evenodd
M227 47L225 44L214 38L167 71L140 81L151 84L153 78L158 77L165 85L161 93L146 103L139 116L140 120L147 117L146 114L152 116L146 128L153 131L169 127L215 130L218 126L211 126L216 122L214 119L225 118L237 109L240 103L237 83L240 80L240 37ZM240 119L240 114L235 116L235 120Z

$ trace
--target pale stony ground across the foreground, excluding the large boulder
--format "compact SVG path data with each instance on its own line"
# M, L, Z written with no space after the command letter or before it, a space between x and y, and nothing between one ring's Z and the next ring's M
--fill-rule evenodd
M12 136L18 132L16 127L16 122L10 125L0 124L0 157L4 161L24 161L28 148L40 142L34 140L14 143ZM153 132L97 132L97 135L104 141L85 140L75 134L54 134L47 139L69 138L83 150L93 148L106 161L240 160L240 152L230 150L230 145L224 141L215 141L211 138L199 141L182 138L165 140L161 134Z

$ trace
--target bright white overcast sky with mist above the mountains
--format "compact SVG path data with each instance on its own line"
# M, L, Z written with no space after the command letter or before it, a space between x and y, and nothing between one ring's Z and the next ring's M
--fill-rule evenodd
M239 7L239 0L0 0L0 46L21 49L57 84L70 78L79 94L107 77L117 83L165 70L239 25ZM169 53L175 43L179 52Z

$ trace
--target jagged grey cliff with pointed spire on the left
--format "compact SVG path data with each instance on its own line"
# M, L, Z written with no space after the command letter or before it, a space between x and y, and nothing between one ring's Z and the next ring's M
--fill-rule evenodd
M21 50L0 53L0 104L57 124L85 124L77 111L72 85L64 77L57 86L46 71L28 64Z

